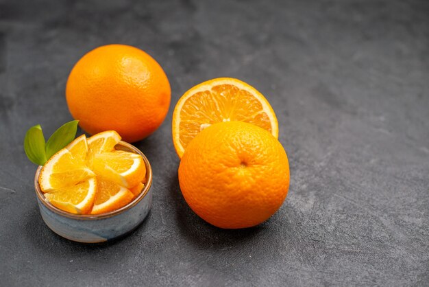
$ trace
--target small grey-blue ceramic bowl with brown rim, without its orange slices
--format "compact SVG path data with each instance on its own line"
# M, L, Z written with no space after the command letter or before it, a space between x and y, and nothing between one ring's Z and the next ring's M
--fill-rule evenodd
M151 165L145 154L130 143L120 141L116 148L117 150L135 152L143 157L146 165L146 183L142 192L131 203L106 214L71 214L51 205L40 190L38 178L42 167L38 167L34 177L37 202L43 221L53 232L69 240L96 243L123 236L143 222L152 203Z

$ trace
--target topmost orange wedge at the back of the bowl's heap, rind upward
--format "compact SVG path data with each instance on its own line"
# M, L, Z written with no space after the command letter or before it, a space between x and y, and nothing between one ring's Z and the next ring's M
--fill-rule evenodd
M88 165L92 165L95 154L101 152L112 152L114 146L121 141L121 136L114 130L107 130L106 132L97 133L88 138L88 155L86 157Z

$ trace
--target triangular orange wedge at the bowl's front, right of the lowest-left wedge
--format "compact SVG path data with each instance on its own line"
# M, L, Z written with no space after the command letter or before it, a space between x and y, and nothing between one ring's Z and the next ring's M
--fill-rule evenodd
M119 209L132 201L134 194L126 187L97 176L97 195L91 214L104 214Z

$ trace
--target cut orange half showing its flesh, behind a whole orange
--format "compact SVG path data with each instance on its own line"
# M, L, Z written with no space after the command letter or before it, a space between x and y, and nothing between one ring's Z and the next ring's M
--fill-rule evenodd
M234 78L217 78L186 91L173 112L173 143L179 157L204 128L241 121L260 126L278 137L278 122L265 97Z

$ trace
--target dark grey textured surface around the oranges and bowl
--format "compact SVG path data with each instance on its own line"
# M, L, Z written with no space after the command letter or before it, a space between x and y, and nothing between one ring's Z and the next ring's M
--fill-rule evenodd
M66 78L108 43L154 56L171 106L136 143L147 220L77 244L42 222L23 137L71 120ZM220 76L267 97L289 155L289 196L252 229L206 224L177 182L175 103ZM0 0L0 285L429 286L428 91L428 1Z

